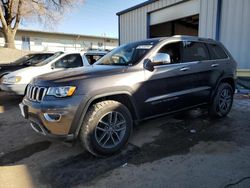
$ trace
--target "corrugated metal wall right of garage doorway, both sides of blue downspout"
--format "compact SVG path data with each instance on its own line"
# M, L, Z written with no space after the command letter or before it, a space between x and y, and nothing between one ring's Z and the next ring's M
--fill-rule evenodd
M199 36L216 38L218 0L201 0ZM250 1L222 0L219 40L238 62L250 69Z

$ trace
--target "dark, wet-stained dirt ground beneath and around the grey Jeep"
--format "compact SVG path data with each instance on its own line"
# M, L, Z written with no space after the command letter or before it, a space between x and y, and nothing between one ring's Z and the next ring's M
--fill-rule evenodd
M48 140L0 91L0 187L250 187L250 99L228 117L193 110L141 123L122 153L95 158L76 143Z

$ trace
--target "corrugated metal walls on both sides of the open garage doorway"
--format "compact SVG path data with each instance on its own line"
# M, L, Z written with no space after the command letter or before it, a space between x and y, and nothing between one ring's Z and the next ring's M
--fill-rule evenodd
M147 38L147 13L184 0L158 0L120 16L120 43ZM221 0L219 40L250 69L250 0ZM199 36L216 39L218 0L200 0Z

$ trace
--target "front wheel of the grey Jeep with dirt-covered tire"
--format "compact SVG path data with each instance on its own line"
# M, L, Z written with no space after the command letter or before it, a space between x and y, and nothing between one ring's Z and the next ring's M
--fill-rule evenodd
M118 124L120 128L116 127ZM125 146L132 129L133 120L128 108L117 101L107 100L90 107L79 136L82 145L90 153L96 156L107 156L120 151ZM107 139L109 140L106 141Z

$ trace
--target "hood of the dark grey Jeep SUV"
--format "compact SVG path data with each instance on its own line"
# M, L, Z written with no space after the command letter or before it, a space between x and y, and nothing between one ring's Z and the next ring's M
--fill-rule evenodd
M70 82L92 77L103 77L116 73L118 74L120 72L124 72L126 69L126 66L92 65L43 74L36 77L33 82Z

